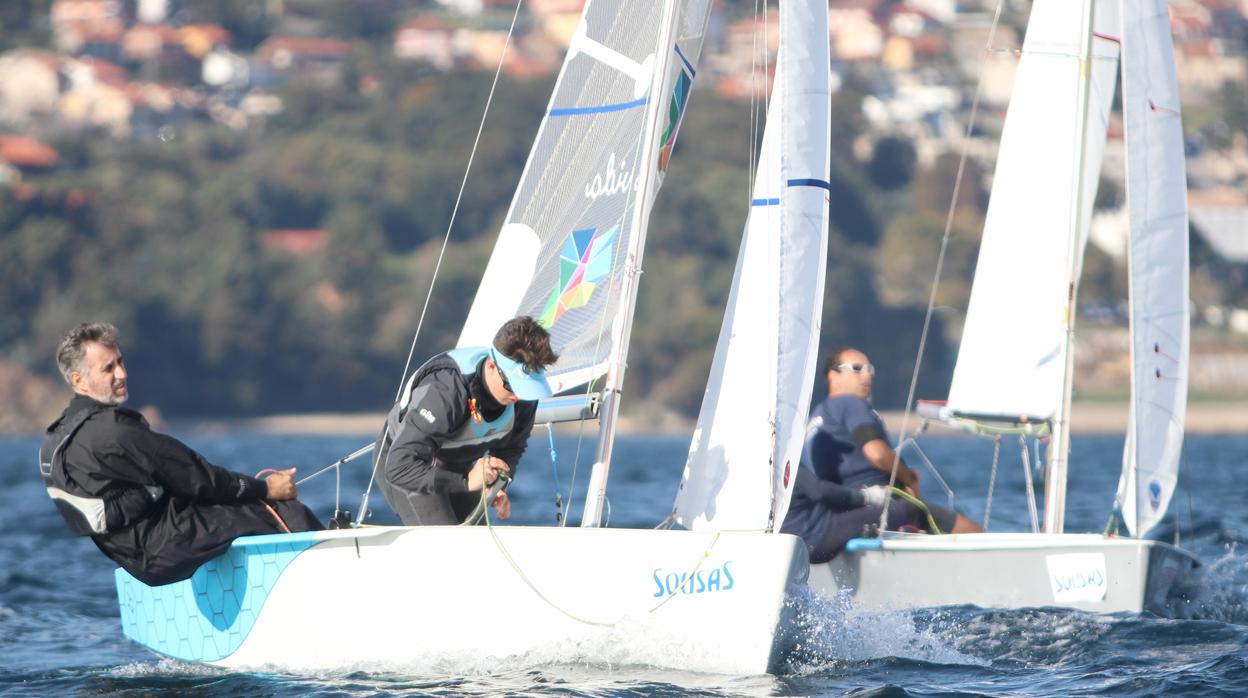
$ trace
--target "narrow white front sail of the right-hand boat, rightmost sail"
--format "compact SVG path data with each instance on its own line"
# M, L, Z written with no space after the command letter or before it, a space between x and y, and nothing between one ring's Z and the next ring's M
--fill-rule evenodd
M1122 115L1131 221L1131 425L1118 506L1143 537L1178 479L1187 411L1187 177L1178 80L1163 0L1122 5Z

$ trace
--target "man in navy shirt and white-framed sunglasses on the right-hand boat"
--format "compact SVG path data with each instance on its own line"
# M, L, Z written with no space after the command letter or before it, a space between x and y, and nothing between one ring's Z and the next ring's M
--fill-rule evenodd
M889 442L889 432L880 415L871 407L871 381L875 367L859 350L836 347L827 355L825 366L827 400L810 415L802 466L810 467L819 479L855 489L886 487L894 463L896 486L921 498L919 473L900 460ZM981 532L978 524L945 507L925 503L942 533ZM890 526L891 523L890 508ZM920 523L926 524L926 517ZM899 522L909 523L909 522Z

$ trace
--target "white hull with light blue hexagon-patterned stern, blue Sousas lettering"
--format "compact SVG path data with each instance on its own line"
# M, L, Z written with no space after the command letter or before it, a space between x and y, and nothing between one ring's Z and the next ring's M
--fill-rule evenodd
M240 538L163 587L119 569L117 594L131 639L228 668L559 652L755 674L782 654L786 594L807 569L784 534L378 527Z

